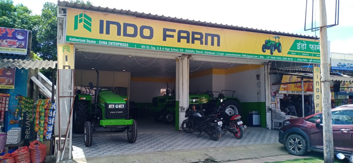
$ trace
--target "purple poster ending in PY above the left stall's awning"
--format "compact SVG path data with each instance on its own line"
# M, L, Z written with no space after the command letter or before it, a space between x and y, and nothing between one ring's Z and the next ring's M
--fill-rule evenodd
M0 27L0 53L27 55L28 30Z

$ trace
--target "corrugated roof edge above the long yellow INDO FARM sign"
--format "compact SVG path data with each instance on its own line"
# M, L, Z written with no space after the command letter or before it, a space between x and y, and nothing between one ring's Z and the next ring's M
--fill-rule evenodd
M233 26L233 25L228 25L228 24L217 24L217 23L207 23L207 22L201 22L201 21L196 21L196 20L189 20L189 19L183 19L183 18L172 18L172 17L166 17L164 15L158 16L157 14L153 15L151 13L139 13L137 11L130 11L130 10L118 10L116 8L108 8L108 7L101 7L101 6L93 6L93 5L83 5L83 4L77 4L75 3L70 3L68 1L59 1L58 0L58 6L62 7L70 7L70 8L77 8L77 9L82 9L82 10L91 10L91 11L99 11L99 12L107 12L107 13L114 13L114 14L122 14L122 15L128 15L128 16L134 16L137 18L144 18L144 19L152 19L152 20L160 20L160 21L167 21L167 22L173 22L173 23L181 23L181 24L190 24L190 25L198 25L198 26L207 26L207 27L213 27L213 28L221 28L221 29L230 29L230 30L239 30L239 31L247 31L247 32L257 32L257 33L263 33L263 34L271 34L271 35L282 35L282 36L289 36L289 37L299 37L299 38L309 38L309 39L319 39L317 36L307 36L307 35L298 35L298 34L291 34L291 33L286 33L286 32L281 32L281 31L270 31L270 30L262 30L262 29L253 29L253 28L247 28L243 26Z

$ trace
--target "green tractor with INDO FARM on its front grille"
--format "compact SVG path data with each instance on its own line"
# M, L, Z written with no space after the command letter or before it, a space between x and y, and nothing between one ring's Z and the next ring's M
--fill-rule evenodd
M77 95L73 107L73 131L84 134L86 147L92 145L92 133L94 131L120 132L127 130L127 141L135 143L137 123L135 120L129 119L125 99L112 92L110 88L99 88L99 72L96 72L96 89L90 82L89 87L81 86L81 89L76 91ZM94 95L91 92L92 90L95 92Z

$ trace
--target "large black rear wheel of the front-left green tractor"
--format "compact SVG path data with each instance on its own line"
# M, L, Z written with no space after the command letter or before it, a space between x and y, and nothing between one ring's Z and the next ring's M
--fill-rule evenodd
M83 133L84 123L88 120L88 101L77 100L73 108L73 132Z

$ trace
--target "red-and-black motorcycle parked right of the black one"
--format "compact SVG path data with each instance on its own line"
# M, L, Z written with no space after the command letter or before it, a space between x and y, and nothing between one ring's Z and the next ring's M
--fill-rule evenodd
M224 132L222 135L229 131L234 135L235 138L243 138L243 130L246 128L246 126L243 125L243 121L240 120L240 115L229 115L225 111L221 111L217 114L216 117L222 119L222 130Z

